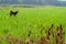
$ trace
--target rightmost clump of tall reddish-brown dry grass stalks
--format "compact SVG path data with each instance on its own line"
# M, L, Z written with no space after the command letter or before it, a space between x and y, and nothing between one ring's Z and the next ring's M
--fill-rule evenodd
M63 26L59 25L57 26L57 35L56 35L56 44L63 44L64 40L63 40Z

